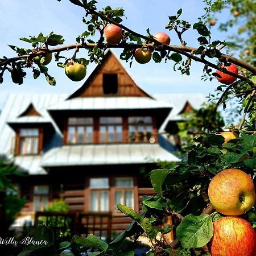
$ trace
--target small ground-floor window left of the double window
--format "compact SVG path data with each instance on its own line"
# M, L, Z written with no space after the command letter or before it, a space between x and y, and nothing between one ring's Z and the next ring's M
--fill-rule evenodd
M34 211L44 210L49 202L49 186L36 185L34 186L33 205Z

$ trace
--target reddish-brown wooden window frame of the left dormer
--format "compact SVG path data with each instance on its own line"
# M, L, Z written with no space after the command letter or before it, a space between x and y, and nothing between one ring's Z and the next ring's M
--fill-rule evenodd
M20 130L22 129L38 129L39 134L38 136L20 136ZM22 154L20 152L20 143L22 138L38 138L38 150L36 153L27 153L25 152ZM16 144L15 144L15 154L16 155L40 155L41 151L43 149L43 127L20 127L16 130Z

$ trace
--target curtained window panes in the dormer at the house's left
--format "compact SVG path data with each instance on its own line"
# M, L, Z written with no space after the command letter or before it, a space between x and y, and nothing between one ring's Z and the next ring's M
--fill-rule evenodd
M20 129L19 138L20 155L35 155L39 153L39 129Z

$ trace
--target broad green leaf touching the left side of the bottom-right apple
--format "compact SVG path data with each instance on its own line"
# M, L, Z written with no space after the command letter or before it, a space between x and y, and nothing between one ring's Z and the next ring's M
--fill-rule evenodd
M177 239L184 248L191 249L206 245L213 236L213 222L208 214L183 218L176 229Z

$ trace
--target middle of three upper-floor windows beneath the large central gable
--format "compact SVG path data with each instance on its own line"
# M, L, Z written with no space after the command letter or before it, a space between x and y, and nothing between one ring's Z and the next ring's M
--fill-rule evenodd
M122 118L100 117L100 142L122 142Z

